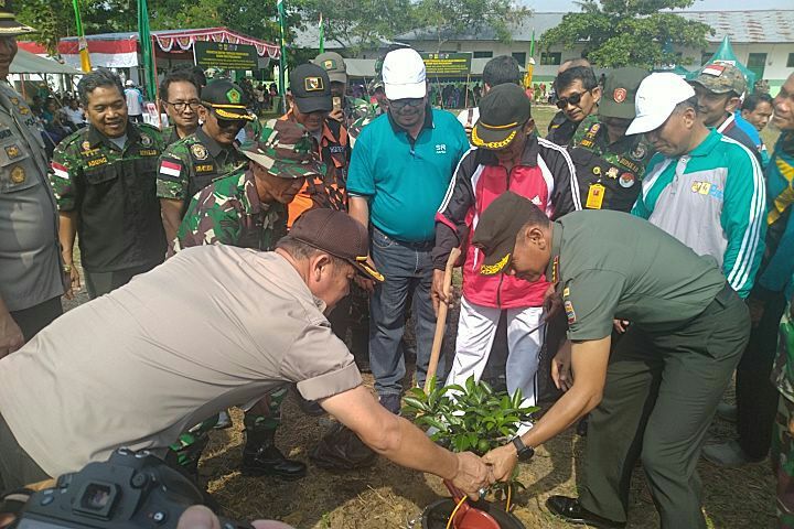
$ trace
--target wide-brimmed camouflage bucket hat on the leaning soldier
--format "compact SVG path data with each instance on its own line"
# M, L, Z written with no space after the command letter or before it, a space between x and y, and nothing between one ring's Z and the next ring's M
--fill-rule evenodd
M249 160L281 179L321 176L323 164L312 153L312 143L302 125L283 119L270 119L257 141L245 141L237 148Z

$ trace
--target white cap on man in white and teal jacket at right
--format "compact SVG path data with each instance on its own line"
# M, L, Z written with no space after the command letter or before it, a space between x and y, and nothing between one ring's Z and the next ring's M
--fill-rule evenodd
M626 136L658 129L670 117L676 105L693 96L695 89L676 74L664 72L648 75L637 88L634 99L636 118L629 126Z

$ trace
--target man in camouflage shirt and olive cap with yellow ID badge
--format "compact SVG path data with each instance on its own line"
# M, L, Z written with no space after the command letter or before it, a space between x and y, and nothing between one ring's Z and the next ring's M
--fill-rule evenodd
M625 136L634 119L634 96L647 72L613 71L604 84L599 114L579 125L568 150L576 165L584 208L631 212L642 188L653 148L642 134Z

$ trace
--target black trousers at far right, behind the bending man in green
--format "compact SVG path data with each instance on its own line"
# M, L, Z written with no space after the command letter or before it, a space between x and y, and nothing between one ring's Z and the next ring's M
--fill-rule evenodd
M750 343L737 367L737 433L739 445L751 460L766 457L772 443L777 390L770 381L770 374L784 310L783 293L766 302L763 316L750 332Z

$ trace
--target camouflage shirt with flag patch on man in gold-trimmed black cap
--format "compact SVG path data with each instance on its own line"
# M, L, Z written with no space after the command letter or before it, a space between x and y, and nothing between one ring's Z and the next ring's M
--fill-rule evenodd
M182 201L187 208L191 197L245 163L234 145L221 145L201 128L169 145L160 156L158 196Z

